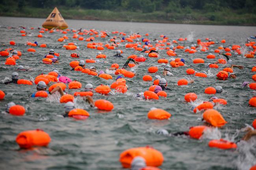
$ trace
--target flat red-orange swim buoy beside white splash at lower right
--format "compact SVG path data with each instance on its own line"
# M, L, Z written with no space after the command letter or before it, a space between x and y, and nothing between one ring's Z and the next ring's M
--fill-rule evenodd
M219 148L219 149L237 148L236 143L226 141L224 139L211 140L211 141L209 141L208 146L211 147L211 148Z

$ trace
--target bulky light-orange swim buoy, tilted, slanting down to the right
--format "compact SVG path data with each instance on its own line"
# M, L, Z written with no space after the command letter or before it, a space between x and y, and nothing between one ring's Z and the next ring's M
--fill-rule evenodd
M208 109L203 113L203 119L214 127L224 126L227 122L217 110Z

